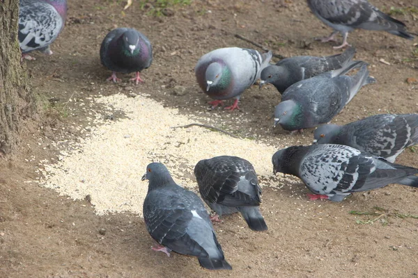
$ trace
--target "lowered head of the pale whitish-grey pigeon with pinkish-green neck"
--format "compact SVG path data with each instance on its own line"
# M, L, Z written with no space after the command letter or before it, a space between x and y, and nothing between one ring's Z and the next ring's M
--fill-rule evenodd
M224 90L231 83L231 72L226 65L214 62L208 65L205 73L206 92L213 88L214 90Z

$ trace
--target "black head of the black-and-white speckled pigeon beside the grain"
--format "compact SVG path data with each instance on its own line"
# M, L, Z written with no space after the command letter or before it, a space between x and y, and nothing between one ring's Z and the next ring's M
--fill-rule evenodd
M272 157L273 174L293 174L297 175L297 165L292 163L295 158L295 154L302 149L303 146L293 146L286 149L280 149Z

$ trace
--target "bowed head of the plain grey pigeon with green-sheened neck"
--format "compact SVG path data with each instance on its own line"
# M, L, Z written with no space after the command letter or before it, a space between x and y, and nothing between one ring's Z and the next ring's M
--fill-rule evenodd
M281 101L274 108L274 127L280 124L284 129L292 129L300 124L302 116L302 108L295 101Z

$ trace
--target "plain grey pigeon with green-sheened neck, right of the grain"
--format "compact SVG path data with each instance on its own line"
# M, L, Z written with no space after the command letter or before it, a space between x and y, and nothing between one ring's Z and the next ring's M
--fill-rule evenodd
M369 77L366 63L353 76L345 72L327 72L311 79L299 81L281 96L274 110L274 126L295 131L309 129L330 122L357 94L363 85L374 83Z

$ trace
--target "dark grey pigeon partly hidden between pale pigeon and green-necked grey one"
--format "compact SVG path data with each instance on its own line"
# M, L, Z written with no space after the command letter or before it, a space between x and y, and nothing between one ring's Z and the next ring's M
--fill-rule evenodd
M327 57L295 56L280 60L276 65L269 65L261 72L260 88L265 83L272 83L276 89L283 92L296 82L330 72L344 71L348 67L360 63L353 61L355 49L348 48L342 54Z

